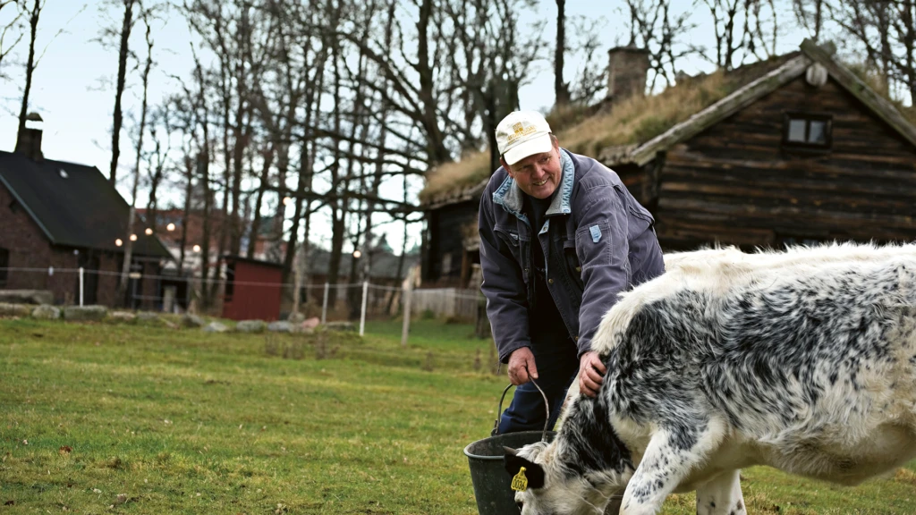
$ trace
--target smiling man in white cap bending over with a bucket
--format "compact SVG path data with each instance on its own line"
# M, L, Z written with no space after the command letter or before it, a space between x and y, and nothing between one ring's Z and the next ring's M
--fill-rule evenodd
M591 341L617 294L664 271L652 215L598 161L560 148L536 112L496 126L502 167L480 201L486 312L515 397L498 431L550 427L576 374L594 397L605 366Z

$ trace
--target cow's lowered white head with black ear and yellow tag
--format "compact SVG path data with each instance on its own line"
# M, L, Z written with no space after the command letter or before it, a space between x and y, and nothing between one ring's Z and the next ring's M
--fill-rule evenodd
M527 488L516 491L522 515L601 515L610 497L623 491L632 475L632 466L623 470L583 470L562 456L572 451L557 440L539 442L518 449L506 449L503 463L515 477L525 467ZM573 465L573 466L571 466Z

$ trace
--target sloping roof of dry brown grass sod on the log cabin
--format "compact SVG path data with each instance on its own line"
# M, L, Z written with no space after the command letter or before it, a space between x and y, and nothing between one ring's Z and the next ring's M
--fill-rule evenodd
M595 115L585 115L583 109L551 113L548 122L560 145L577 154L598 157L605 152L603 157L607 157L614 148L625 153L798 55L792 52L735 71L688 78L659 94L632 97ZM445 163L427 174L420 203L438 204L474 196L492 171L488 149Z

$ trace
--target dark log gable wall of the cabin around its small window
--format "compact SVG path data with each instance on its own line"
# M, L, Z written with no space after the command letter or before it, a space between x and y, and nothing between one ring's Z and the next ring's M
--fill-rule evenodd
M832 147L783 146L786 112L833 115ZM838 83L800 77L671 148L656 217L666 249L911 241L916 148Z

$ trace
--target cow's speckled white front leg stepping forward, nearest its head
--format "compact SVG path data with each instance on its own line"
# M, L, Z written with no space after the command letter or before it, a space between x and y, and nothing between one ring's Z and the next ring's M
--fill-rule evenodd
M692 429L691 429L692 428ZM620 515L654 515L665 498L717 444L708 423L654 433L624 491Z

